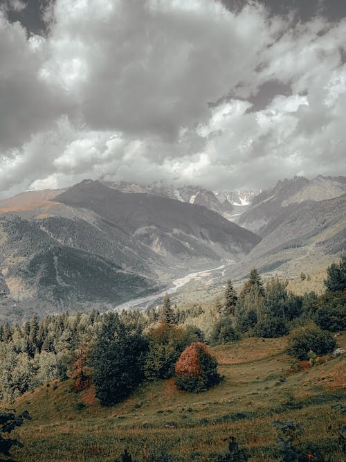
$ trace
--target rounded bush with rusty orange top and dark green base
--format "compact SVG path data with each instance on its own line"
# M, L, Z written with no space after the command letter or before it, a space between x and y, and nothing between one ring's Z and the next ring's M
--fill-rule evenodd
M175 366L176 386L198 393L217 385L221 377L217 372L217 360L205 344L194 342L181 353Z

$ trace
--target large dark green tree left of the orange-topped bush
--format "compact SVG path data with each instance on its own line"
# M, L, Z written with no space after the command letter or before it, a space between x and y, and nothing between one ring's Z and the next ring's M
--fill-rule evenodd
M95 396L111 406L129 396L143 379L147 343L138 328L123 323L118 314L104 314L91 350Z

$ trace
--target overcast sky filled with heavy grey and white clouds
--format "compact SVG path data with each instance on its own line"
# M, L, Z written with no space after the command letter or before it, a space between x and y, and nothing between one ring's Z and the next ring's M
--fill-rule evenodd
M346 1L0 0L0 197L345 175Z

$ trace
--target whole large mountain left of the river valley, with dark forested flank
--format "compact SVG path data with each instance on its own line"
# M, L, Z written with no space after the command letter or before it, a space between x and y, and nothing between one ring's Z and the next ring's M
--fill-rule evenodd
M0 215L0 311L8 316L12 308L21 317L118 305L190 270L240 260L260 242L204 206L100 181L25 197Z

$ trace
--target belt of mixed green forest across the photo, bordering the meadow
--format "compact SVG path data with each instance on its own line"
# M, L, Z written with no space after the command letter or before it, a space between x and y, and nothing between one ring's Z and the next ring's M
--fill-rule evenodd
M203 345L281 337L291 330L289 354L318 361L336 348L331 332L346 329L346 258L328 267L326 290L320 296L298 296L286 287L280 278L264 285L253 269L239 293L228 281L223 299L185 310L172 306L166 295L160 309L147 312L64 313L42 320L33 317L23 326L0 324L0 400L11 402L42 384L74 377L76 391L93 382L101 404L113 405L143 380L174 375L178 360L177 386L203 391L219 382ZM203 371L192 377L191 368L184 369L179 357L191 345L195 347L190 355L185 353L185 362L202 355L203 361L195 361L208 364L208 373L200 368ZM185 384L184 370L194 384Z

